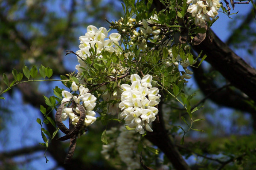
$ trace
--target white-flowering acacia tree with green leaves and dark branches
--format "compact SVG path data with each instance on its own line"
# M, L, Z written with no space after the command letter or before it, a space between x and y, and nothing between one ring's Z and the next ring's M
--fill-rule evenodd
M226 7L215 0L125 1L125 15L118 21L108 21L115 33L109 34L104 27L87 26L86 34L79 37L79 50L66 51L66 55L73 54L78 59L75 72L56 80L50 79L54 71L43 65L39 67L40 78L35 65L30 69L23 66L23 73L13 69L13 81L3 74L8 88L2 94L25 82L63 83L65 89L56 86L54 96L44 96L45 104L40 105L44 119L38 118L37 122L44 140L41 144L58 162L64 161L63 167L67 169L84 166L81 162L76 164L78 159L72 160L72 157L76 142L82 139L79 137L90 133L95 121L103 125L98 132L104 144L102 154L111 160L105 169L119 169L120 161L128 169L196 169L198 167L189 166L183 157L191 154L203 158L197 161L206 169L248 165L251 168L255 166L254 145L241 150L230 150L239 144L227 145L223 150L218 147L211 150L209 145L198 143L185 145L189 131L203 131L197 128L202 118L196 113L207 98L218 100L221 105L255 112L256 70L209 28L220 8L230 14L225 3ZM234 4L231 1L233 7ZM204 59L227 79L227 85L217 88L212 79L203 74L205 70L200 65ZM193 75L191 68L206 94L197 104L193 103L196 94L190 94L186 88ZM243 103L238 105L237 100ZM38 104L41 103L35 103ZM63 123L65 120L68 120L68 127ZM180 120L184 126L177 125ZM59 137L58 131L65 135ZM181 134L180 144L175 143L177 134ZM89 135L85 137L90 140ZM70 146L65 153L58 149L59 141L68 139ZM61 152L56 153L56 150ZM218 154L224 156L212 157Z

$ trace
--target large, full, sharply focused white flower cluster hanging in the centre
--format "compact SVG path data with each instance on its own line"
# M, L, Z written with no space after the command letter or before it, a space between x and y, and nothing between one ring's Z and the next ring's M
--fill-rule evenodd
M125 120L125 123L130 128L135 128L136 132L143 134L144 128L149 132L153 130L148 125L156 119L158 109L155 105L160 102L160 94L158 88L152 88L152 76L145 75L143 79L137 74L131 75L131 85L122 84L123 90L121 95L121 108L122 113L119 117Z

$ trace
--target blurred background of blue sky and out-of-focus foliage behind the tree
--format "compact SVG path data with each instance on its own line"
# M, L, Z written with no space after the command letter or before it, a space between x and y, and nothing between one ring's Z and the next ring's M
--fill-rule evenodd
M12 79L12 69L21 71L24 64L28 67L34 64L38 67L49 66L55 78L73 72L77 59L72 55L65 57L65 51L78 49L78 37L85 34L88 25L108 27L105 19L119 20L123 15L121 2L0 0L0 79L3 79L3 73ZM246 6L244 10L249 12L238 14L229 22L231 33L226 42L255 68L255 16L252 16L250 7ZM216 89L227 84L209 64L204 63L201 69L204 77L207 77L204 81L213 82L215 86L202 91L201 86L196 85L198 79L193 79L186 91L188 94L196 92L192 100L194 105L204 99L206 93L211 96ZM78 140L72 165L63 164L69 143L56 140L52 141L52 147L47 151L50 162L45 164L45 148L38 144L42 139L36 118L42 117L38 109L40 105L45 105L42 95L52 95L52 88L56 85L61 88L61 83L48 82L19 85L5 94L5 100L0 100L0 170L125 169L121 162L120 166L113 167L113 162L105 161L101 155L100 139L105 127L99 122ZM6 88L2 81L0 87ZM235 92L243 95L233 87L226 90L230 94ZM194 125L204 132L190 131L185 136L184 145L180 145L183 134L177 125L186 127L180 119L186 111L180 109L172 99L165 106L169 113L165 119L168 120L166 126L170 128L170 135L175 136L180 153L192 169L217 169L225 162L225 168L230 170L256 168L255 104L247 101L244 109L239 109L236 103L221 104L221 98L212 99L207 96L205 99L204 108L195 115L195 119L205 120ZM46 128L54 130L50 126Z

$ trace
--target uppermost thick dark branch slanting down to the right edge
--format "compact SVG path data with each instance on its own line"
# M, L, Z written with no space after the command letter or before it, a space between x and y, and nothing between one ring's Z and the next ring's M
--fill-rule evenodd
M214 32L199 45L192 46L195 51L206 54L206 61L219 71L233 86L256 101L256 70L237 56ZM212 37L212 41L211 38Z

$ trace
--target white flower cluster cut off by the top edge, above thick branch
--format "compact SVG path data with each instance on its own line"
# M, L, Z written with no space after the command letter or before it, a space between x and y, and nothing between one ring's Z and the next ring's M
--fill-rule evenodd
M187 11L195 17L195 25L201 27L205 26L206 21L210 21L210 17L218 15L217 11L221 6L218 0L187 0L186 3L192 3Z

